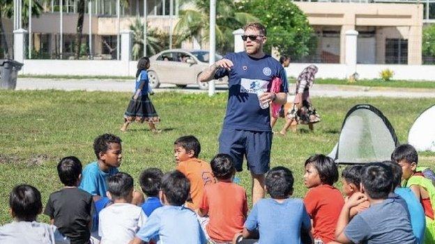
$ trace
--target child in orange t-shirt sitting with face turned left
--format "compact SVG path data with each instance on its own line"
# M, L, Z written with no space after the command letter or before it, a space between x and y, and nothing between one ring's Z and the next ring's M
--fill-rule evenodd
M174 142L176 170L190 181L190 198L186 206L197 210L202 201L204 186L215 183L210 164L198 159L201 145L194 136L182 136Z

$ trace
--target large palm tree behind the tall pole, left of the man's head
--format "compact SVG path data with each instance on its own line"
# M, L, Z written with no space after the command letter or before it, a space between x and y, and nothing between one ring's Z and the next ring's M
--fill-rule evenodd
M194 8L180 10L180 19L174 28L178 42L184 40L207 41L209 33L210 1L194 0ZM248 22L258 21L249 13L239 12L234 0L216 3L216 43L219 51L229 51L233 42L232 32Z

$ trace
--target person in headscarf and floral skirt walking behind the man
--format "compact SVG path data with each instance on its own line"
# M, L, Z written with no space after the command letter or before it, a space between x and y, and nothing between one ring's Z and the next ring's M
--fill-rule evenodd
M310 88L314 84L317 70L316 65L310 65L300 72L296 79L296 97L293 101L293 108L287 113L288 120L280 131L282 135L287 133L289 127L291 131L296 132L298 124L308 124L310 130L313 130L313 124L320 122L320 117L310 100Z

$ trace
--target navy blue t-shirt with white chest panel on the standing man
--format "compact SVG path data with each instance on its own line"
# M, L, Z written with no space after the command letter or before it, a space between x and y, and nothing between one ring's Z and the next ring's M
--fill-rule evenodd
M270 131L269 108L259 106L257 90L266 92L273 78L282 80L280 92L288 92L287 76L282 65L269 55L252 58L245 51L224 56L234 64L231 70L220 68L215 79L229 77L227 114L223 129Z

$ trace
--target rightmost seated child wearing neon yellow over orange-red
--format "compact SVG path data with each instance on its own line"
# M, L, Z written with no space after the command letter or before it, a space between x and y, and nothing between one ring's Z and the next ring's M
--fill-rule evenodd
M425 243L435 243L435 186L425 176L426 168L418 167L418 154L409 144L399 145L391 154L391 161L402 167L402 186L411 188L425 210Z

